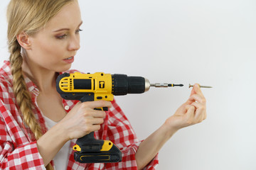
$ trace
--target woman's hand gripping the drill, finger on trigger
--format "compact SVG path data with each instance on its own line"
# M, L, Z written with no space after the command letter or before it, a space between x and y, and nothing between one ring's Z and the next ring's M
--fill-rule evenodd
M106 113L105 111L97 111L95 108L102 107L111 108L112 103L110 101L78 102L65 118L60 120L66 139L77 139L90 132L100 130Z

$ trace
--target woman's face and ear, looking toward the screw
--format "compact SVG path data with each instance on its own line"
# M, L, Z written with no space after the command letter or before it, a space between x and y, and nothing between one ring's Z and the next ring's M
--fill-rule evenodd
M43 71L63 72L70 69L80 48L82 24L77 1L64 6L35 35L29 36L31 47L26 50L28 64Z

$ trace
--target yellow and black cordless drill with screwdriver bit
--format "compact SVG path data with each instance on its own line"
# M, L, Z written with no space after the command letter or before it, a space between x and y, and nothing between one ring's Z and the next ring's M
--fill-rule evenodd
M126 74L60 74L56 80L56 88L60 96L67 100L113 101L114 96L126 94L142 94L149 91L150 86L168 87L183 84L150 84L144 77L128 77ZM95 108L107 111L107 108ZM110 140L96 140L94 132L79 138L75 150L75 161L80 163L121 162L122 153Z

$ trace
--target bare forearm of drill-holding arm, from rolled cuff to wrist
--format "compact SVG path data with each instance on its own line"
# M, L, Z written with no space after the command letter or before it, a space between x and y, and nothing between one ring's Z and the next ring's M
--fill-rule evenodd
M45 166L55 157L55 154L65 145L68 139L65 137L65 130L62 125L57 125L50 128L42 137L37 141L38 152L43 157L43 163Z

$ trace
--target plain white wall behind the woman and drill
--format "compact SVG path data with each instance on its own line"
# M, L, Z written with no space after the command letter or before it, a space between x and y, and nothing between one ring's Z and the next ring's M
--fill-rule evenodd
M9 57L1 1L0 62ZM82 72L142 76L184 84L118 96L140 140L202 89L208 118L178 131L159 152L158 169L256 169L256 1L81 1Z

